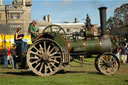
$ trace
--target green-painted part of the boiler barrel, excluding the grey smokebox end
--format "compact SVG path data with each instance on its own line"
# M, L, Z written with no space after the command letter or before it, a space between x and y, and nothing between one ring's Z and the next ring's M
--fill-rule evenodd
M85 45L82 44L82 42L85 43ZM71 48L73 48L73 52L84 52L86 54L97 54L100 52L100 44L99 40L78 40L76 42L71 42Z

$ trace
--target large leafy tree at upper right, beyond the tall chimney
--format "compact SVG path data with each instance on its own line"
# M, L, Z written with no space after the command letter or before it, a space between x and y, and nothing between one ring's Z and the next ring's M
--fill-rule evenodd
M125 35L128 31L128 3L121 5L114 10L114 17L107 21L107 28L112 34Z

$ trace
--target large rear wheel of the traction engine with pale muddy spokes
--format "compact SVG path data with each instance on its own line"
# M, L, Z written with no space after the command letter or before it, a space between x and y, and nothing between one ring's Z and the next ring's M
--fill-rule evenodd
M27 63L37 75L49 76L60 69L62 56L62 49L57 43L49 39L40 39L29 48Z

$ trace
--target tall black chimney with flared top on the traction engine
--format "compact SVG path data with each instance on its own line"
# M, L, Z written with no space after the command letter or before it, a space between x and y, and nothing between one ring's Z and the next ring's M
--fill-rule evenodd
M101 24L101 35L106 34L106 9L107 7L100 7L100 24Z

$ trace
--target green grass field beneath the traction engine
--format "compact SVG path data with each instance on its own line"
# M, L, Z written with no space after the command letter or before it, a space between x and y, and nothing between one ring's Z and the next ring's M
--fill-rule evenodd
M94 67L94 58L70 63L64 71L48 77L36 76L23 69L3 68L0 65L0 85L128 85L128 64L121 65L113 76L100 74Z

